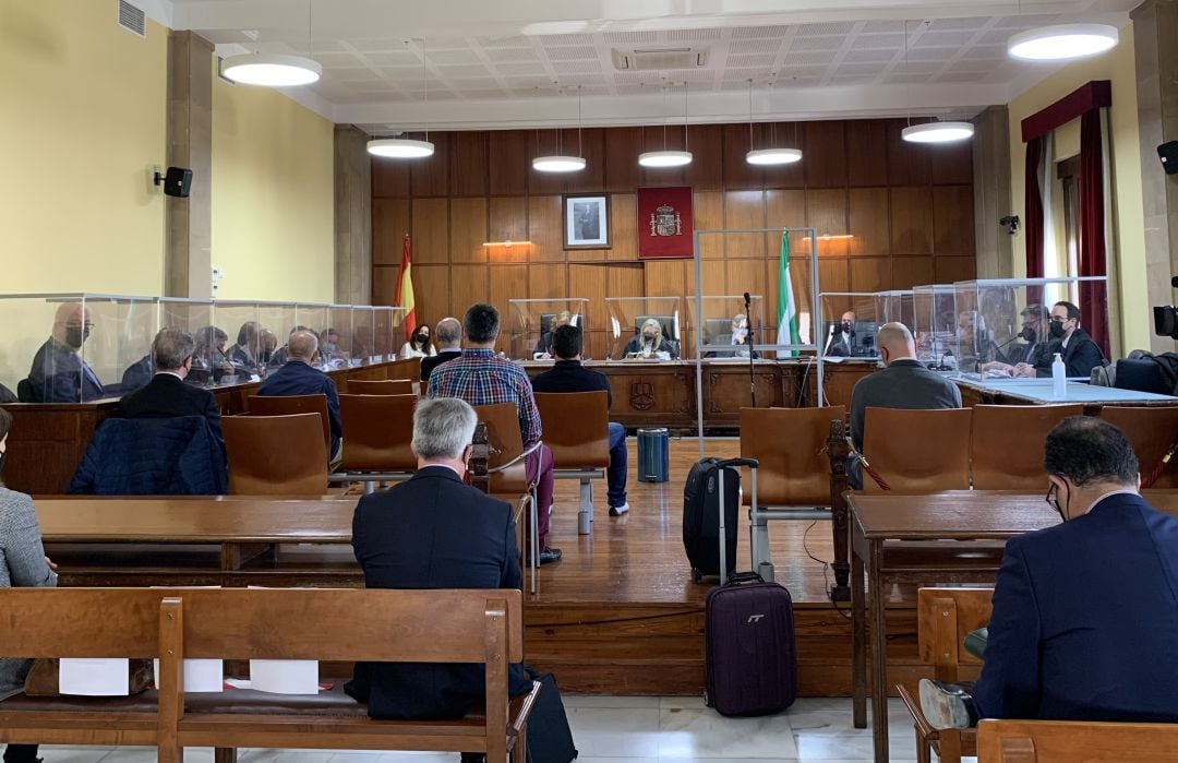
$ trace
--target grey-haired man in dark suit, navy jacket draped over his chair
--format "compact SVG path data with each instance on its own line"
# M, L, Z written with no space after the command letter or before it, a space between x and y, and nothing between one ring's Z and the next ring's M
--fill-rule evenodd
M220 408L207 389L184 383L192 370L196 342L183 329L160 329L151 343L155 374L145 387L119 401L115 415L121 419L171 419L173 416L204 416L209 433L225 448L221 435Z

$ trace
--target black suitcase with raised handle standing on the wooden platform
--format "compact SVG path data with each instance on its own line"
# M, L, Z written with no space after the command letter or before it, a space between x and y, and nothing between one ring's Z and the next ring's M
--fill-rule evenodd
M723 584L736 568L736 509L740 507L740 472L753 469L755 459L701 459L683 486L683 550L691 564L691 579L719 577ZM722 539L722 540L721 540ZM721 571L721 567L723 570Z

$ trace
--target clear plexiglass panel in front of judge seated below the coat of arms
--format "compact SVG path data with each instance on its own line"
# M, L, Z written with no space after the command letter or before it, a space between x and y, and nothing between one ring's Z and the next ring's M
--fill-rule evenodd
M682 356L681 297L610 297L609 357L613 360L677 360Z

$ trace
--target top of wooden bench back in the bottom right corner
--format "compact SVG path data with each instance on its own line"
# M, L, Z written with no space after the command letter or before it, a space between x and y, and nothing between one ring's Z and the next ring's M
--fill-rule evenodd
M1178 724L982 721L978 763L1178 761Z

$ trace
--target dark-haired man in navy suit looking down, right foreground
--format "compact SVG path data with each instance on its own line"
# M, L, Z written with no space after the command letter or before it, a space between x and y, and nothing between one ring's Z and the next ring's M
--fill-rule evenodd
M1178 519L1138 494L1125 435L1091 416L1044 448L1064 522L1006 541L971 688L921 680L934 728L978 718L1178 722Z

